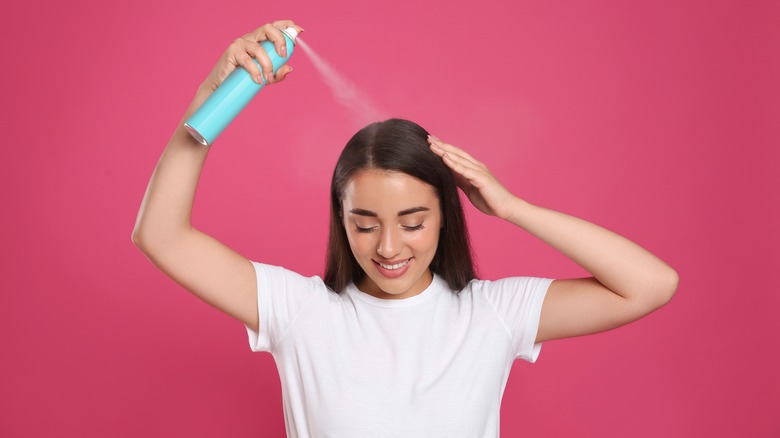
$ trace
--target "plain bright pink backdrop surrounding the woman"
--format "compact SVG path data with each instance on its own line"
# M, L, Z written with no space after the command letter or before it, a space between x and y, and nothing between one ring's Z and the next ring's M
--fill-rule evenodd
M4 6L0 436L284 434L270 355L130 233L224 48L287 17L383 111L679 271L657 313L518 362L504 436L780 436L777 2L272 3ZM357 125L306 55L291 64L214 146L194 221L315 275ZM482 277L583 274L468 210Z

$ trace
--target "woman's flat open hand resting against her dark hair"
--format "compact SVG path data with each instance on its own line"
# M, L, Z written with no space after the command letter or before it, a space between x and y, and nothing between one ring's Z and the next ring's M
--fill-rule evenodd
M438 138L428 136L433 153L441 157L452 170L458 187L481 212L508 219L512 201L517 198L490 173L487 166L475 160L465 151Z

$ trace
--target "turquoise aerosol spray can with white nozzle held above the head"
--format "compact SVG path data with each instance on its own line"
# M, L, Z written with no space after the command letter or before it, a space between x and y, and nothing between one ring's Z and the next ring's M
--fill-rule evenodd
M268 57L271 58L274 74L292 56L295 38L298 36L298 31L292 27L282 30L282 33L287 40L287 57L279 56L271 41L260 42L265 52L268 53ZM260 63L256 59L252 58L252 60L260 67ZM263 78L262 83L258 84L245 68L236 67L184 123L184 129L199 143L211 146L217 136L236 118L264 85L265 78Z

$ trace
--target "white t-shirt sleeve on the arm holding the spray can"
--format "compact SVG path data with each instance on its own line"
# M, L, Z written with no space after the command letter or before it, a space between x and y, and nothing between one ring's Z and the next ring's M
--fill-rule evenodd
M304 277L293 271L252 262L257 275L259 333L246 326L252 351L272 351L295 318L327 287L319 277Z

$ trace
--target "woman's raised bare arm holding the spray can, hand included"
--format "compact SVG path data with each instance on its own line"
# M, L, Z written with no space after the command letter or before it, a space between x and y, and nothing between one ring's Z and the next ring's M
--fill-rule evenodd
M277 21L237 39L228 47L198 91L160 157L146 189L133 229L135 245L165 275L211 306L257 331L257 285L249 260L194 228L192 204L209 149L185 130L184 121L237 66L260 80L262 66L267 82L279 82L292 70L285 66L273 76L271 61L258 41L271 40L277 52L286 50L280 28L292 21Z

